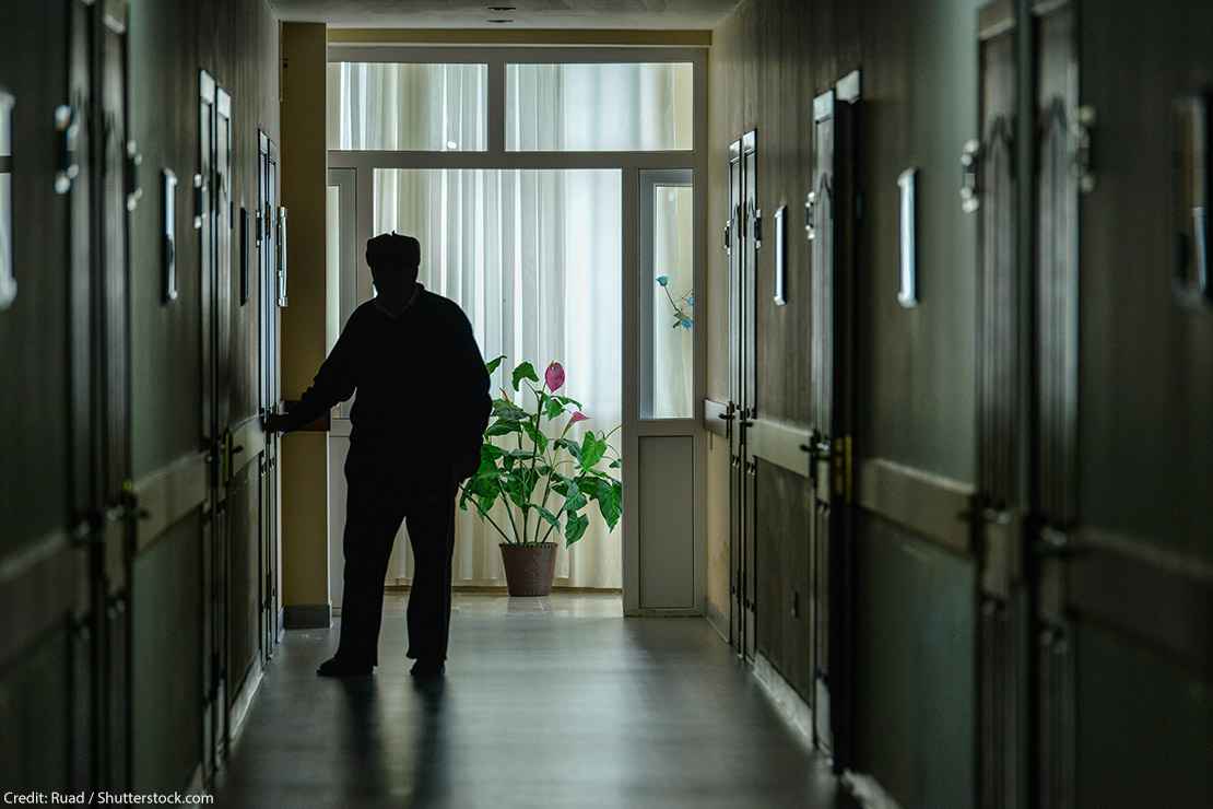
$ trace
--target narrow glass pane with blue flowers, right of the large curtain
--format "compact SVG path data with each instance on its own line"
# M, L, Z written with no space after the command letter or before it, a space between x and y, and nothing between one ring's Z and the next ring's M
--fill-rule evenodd
M643 172L640 416L694 416L695 274L689 171ZM642 298L643 300L643 298Z

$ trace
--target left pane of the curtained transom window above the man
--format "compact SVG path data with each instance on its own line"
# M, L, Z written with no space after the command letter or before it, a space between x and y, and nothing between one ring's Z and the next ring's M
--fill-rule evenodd
M329 148L483 152L484 64L330 62Z

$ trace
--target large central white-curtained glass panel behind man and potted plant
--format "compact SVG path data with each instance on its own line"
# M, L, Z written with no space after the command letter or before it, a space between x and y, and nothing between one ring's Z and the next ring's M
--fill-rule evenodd
M560 392L579 400L588 416L588 421L571 425L566 435L580 443L587 429L605 432L620 425L619 170L378 169L371 223L374 233L395 230L416 237L421 241L421 283L463 308L485 359L507 357L494 374L494 395L509 391L509 372L517 363L531 361L543 377L547 364L556 360L566 374ZM418 380L417 395L434 397L435 406L442 406L443 381ZM518 394L509 391L509 395L517 400ZM525 401L534 403L529 393ZM564 429L564 425L568 422L552 426ZM616 451L621 449L621 432L614 432L609 440ZM611 472L617 475L620 471ZM499 501L491 515L508 526L501 508ZM586 535L569 549L562 543L556 575L576 586L619 587L619 537L610 535L597 507L583 513L590 518ZM494 572L500 536L473 508L456 511L455 536L456 580L472 582L500 575ZM408 547L408 542L397 545L389 579L411 575Z

